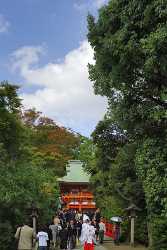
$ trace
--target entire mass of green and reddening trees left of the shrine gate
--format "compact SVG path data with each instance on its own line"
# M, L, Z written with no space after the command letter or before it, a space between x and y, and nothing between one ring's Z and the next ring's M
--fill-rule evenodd
M17 225L34 202L40 223L58 208L57 177L76 154L80 137L36 110L22 111L18 87L0 84L0 246L13 249ZM29 212L30 213L30 212Z

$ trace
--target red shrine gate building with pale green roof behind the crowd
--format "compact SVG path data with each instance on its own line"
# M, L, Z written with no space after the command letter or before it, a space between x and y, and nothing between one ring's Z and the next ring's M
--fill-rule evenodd
M84 171L81 161L69 161L67 175L59 179L64 208L78 211L96 208L93 194L90 191L89 178L90 176Z

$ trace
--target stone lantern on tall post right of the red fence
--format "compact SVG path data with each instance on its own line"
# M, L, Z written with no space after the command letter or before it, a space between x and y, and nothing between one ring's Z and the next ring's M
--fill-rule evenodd
M131 246L134 246L135 218L137 217L136 212L141 211L141 209L132 203L129 207L125 208L125 211L128 213L131 224L130 244Z

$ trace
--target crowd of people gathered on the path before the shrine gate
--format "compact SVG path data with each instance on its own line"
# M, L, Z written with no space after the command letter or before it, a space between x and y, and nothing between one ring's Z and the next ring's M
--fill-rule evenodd
M94 245L103 244L105 231L99 209L94 213L59 210L51 223L39 226L37 234L29 225L24 225L17 229L15 238L19 241L19 250L32 249L32 239L37 240L39 250L74 249L79 244L84 250L93 250Z

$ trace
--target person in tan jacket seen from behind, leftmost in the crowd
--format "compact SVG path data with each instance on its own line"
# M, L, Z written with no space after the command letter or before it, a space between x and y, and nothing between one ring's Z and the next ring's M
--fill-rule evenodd
M18 240L18 250L32 250L35 232L30 227L30 221L27 219L22 227L18 227L15 233L15 238Z

